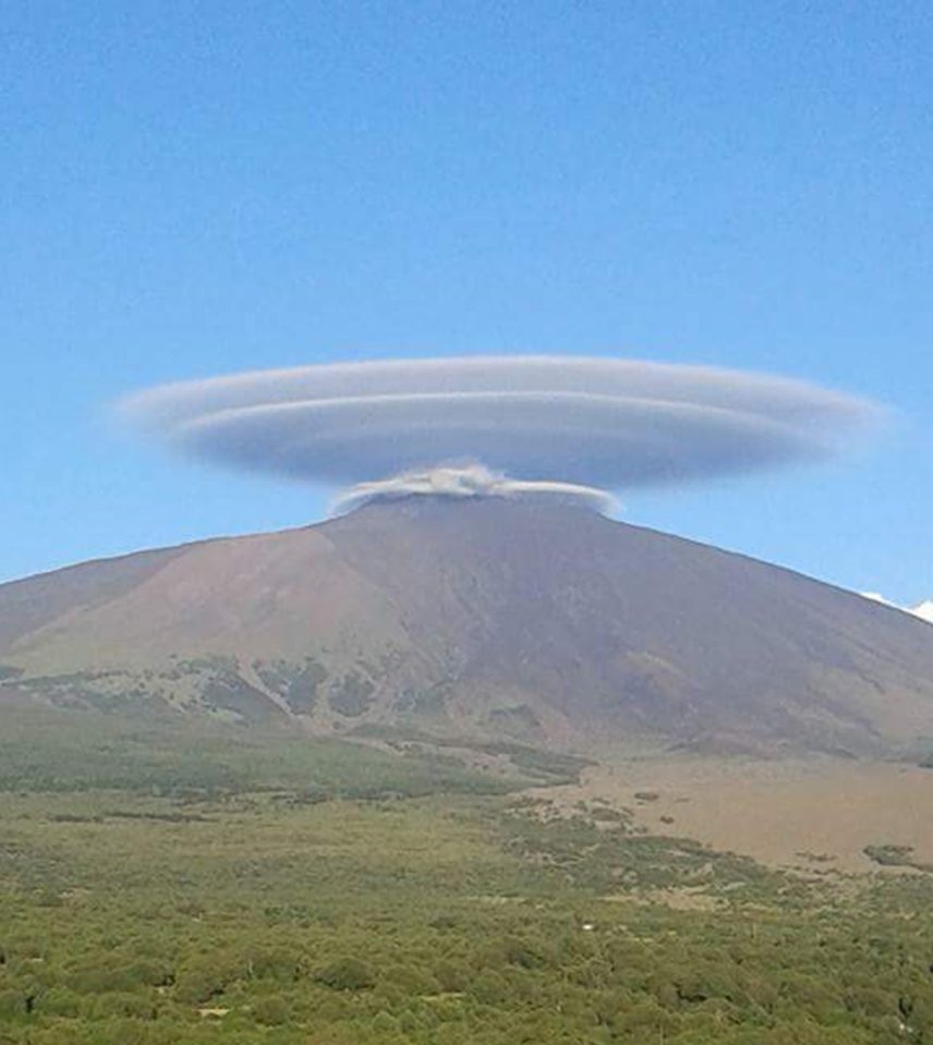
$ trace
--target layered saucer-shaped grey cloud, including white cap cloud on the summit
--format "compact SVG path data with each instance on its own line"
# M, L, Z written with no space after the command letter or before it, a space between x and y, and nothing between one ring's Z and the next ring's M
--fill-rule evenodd
M350 502L574 490L595 502L820 458L872 413L784 378L579 356L264 370L162 386L122 409L185 453L351 485Z

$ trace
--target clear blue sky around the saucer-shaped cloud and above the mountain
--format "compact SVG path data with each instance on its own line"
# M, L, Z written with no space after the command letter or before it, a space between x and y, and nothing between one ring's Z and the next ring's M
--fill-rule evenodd
M174 378L626 354L890 418L626 518L933 596L928 3L14 2L0 42L0 578L302 524L319 490L108 423Z

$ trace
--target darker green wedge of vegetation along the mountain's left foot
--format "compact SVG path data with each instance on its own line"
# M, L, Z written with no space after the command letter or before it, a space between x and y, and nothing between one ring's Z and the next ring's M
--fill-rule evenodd
M517 783L535 779L528 774ZM504 789L431 752L400 758L361 744L179 715L131 719L4 708L0 731L0 791L119 790L187 801L247 791L306 800Z

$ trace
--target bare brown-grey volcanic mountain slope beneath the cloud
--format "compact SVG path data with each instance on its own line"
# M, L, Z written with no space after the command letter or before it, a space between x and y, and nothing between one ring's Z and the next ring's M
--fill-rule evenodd
M933 628L579 508L416 498L0 586L0 696L578 749L888 752Z

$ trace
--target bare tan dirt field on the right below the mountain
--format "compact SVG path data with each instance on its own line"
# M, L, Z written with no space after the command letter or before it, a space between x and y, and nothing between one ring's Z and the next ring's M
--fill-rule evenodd
M552 792L553 794L554 792ZM879 871L865 846L933 863L933 769L810 758L670 757L585 771L561 802L603 798L652 833L683 835L774 866Z

